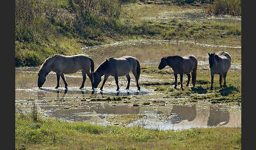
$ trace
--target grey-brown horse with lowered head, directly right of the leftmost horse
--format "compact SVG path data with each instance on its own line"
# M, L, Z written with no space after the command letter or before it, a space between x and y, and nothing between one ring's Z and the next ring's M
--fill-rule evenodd
M137 89L140 91L141 88L138 83L140 74L141 74L140 62L139 60L137 60L132 56L123 56L120 58L111 57L103 61L101 65L93 73L93 76L94 76L93 87L97 88L97 86L101 82L101 77L105 75L104 81L100 88L100 90L102 90L107 78L109 78L109 76L113 76L115 78L115 83L117 86L116 91L119 91L118 77L126 76L128 81L126 89L129 90L130 80L131 80L129 72L131 71L135 77Z

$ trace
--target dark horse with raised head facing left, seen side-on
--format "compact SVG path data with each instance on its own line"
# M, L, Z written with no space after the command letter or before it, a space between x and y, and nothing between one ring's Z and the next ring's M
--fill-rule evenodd
M170 66L173 70L173 74L175 77L175 85L174 89L177 89L177 78L178 74L180 74L181 81L181 89L183 89L182 81L183 81L183 73L188 76L188 82L186 83L186 87L189 86L190 78L192 76L192 84L195 86L196 82L196 69L198 68L198 59L193 55L185 55L181 56L168 56L163 57L158 66L158 69L163 69L165 66ZM191 76L190 76L191 72Z

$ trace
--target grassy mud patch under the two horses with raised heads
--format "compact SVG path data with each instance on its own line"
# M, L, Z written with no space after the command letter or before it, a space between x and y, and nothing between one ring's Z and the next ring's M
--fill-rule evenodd
M213 90L211 88L210 70L198 68L196 74L196 85L186 87L188 81L183 75L183 88L180 89L180 76L178 76L178 89L174 89L174 75L170 67L159 71L156 67L143 67L142 74L150 74L155 79L169 79L169 81L144 81L141 85L146 88L153 88L156 92L165 93L164 98L173 99L172 103L179 103L181 98L183 103L189 102L210 102L210 103L234 103L241 104L241 71L229 71L227 75L227 87L220 88L219 75L215 74ZM168 69L168 70L167 70Z

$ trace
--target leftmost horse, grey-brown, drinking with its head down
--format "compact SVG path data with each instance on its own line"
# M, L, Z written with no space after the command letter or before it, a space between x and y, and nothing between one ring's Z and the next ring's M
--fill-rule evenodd
M90 72L91 69L91 72ZM51 71L56 72L57 75L57 85L55 89L60 87L60 77L64 81L65 89L67 89L67 82L65 80L64 74L71 74L77 71L82 71L83 81L80 89L84 88L84 82L86 80L86 74L91 80L92 89L93 88L93 72L94 72L94 62L90 57L85 55L73 55L73 56L63 56L54 55L48 57L38 72L38 88L41 88L46 80L46 76Z

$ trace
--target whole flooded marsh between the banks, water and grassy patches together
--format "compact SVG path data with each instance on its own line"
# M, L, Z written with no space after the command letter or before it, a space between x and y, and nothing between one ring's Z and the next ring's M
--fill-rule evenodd
M144 125L159 130L211 126L207 122L212 115L210 110L215 108L216 112L228 111L228 116L231 118L223 119L222 113L214 114L220 117L218 120L222 120L213 123L214 126L223 125L223 120L226 121L224 123L226 126L241 126L241 48L219 47L218 49L228 51L232 56L232 65L227 75L227 87L221 89L218 75L216 75L214 89L210 90L211 77L207 56L208 52L215 51L216 47L167 40L124 41L83 50L91 53L90 57L95 61L96 67L102 60L112 56L132 55L138 58L141 63L140 92L136 90L132 74L129 92L125 90L127 84L125 77L119 78L120 92L115 91L116 85L112 77L107 80L103 92L99 89L93 91L88 79L86 79L85 88L80 90L78 87L82 82L81 72L65 76L68 83L67 90L64 89L62 80L61 88L54 89L56 84L54 72L47 76L42 89L38 89L36 84L38 67L25 67L16 69L16 107L29 108L31 106L29 102L33 101L44 116L57 117L61 120L85 121L102 125ZM165 67L159 70L157 66L163 56L184 56L187 53L198 58L196 86L191 87L190 83L189 87L185 87L188 79L184 76L184 90L180 90L179 81L178 89L174 89L172 69ZM193 123L191 119L186 121L186 125L179 126L179 123L183 124L183 120L186 120L186 116L182 116L179 112L173 113L172 110L176 106L181 106L180 109L183 111L186 107L196 106L191 111L194 111L194 116L201 117L199 120L204 123ZM207 110L203 113L204 116L198 114L201 110ZM127 115L130 114L133 114L130 116L132 121L127 119ZM163 115L169 117L161 119L160 116ZM202 118L206 119L202 121ZM229 124L230 119L235 121ZM155 124L161 122L160 120L162 124Z

